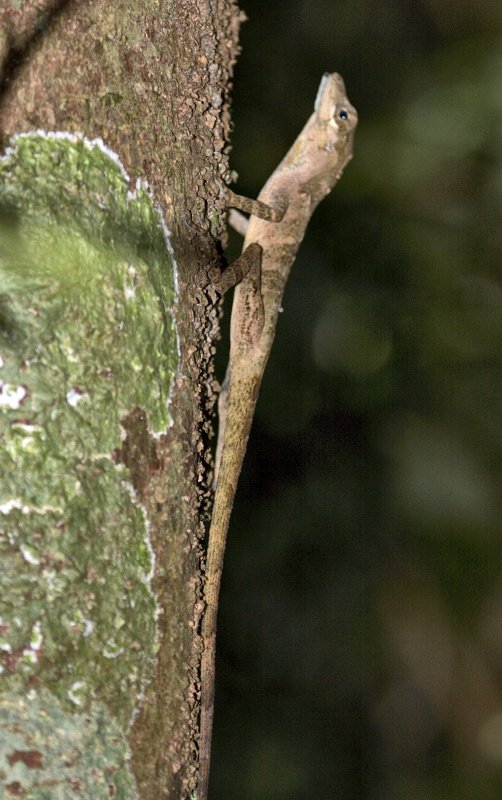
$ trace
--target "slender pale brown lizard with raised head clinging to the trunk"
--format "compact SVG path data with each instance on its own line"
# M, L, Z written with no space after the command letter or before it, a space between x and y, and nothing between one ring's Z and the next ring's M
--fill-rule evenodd
M352 158L357 112L337 73L326 73L305 127L258 200L226 189L227 205L251 214L243 254L214 278L223 294L235 284L230 355L219 398L215 496L206 555L202 619L198 800L207 800L214 708L216 617L230 514L258 392L291 266L318 203Z

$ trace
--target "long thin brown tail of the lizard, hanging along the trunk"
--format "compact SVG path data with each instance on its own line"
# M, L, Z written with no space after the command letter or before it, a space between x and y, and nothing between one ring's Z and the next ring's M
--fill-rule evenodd
M201 710L200 710L200 778L198 800L207 800L211 735L214 709L214 680L216 656L216 618L220 592L223 557L228 525L246 445L251 429L253 408L239 408L242 398L255 398L258 380L232 375L228 391L226 425L223 449L219 464L206 561L204 599L206 608L202 621L204 650L201 660ZM225 402L224 399L222 399ZM248 400L249 403L249 400Z

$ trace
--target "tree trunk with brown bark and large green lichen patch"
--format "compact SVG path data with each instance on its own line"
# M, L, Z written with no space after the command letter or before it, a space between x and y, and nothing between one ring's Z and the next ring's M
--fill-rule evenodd
M188 798L239 12L0 23L0 794Z

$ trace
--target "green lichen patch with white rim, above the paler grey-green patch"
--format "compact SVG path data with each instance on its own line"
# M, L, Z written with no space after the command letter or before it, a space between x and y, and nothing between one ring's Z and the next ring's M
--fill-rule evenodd
M0 161L0 724L43 688L68 724L98 708L125 736L151 676L148 521L117 452L130 412L169 424L174 299L148 191L95 143L18 137Z

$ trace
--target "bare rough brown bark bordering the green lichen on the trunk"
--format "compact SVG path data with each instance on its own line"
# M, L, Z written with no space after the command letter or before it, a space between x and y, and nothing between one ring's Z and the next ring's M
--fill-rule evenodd
M47 0L4 2L0 21L2 143L36 129L101 138L131 179L148 182L172 234L181 341L174 422L152 441L141 415L131 414L121 458L153 521L162 609L155 678L130 736L132 766L142 800L178 800L197 778L201 543L217 325L198 275L218 258L239 13L233 0Z

